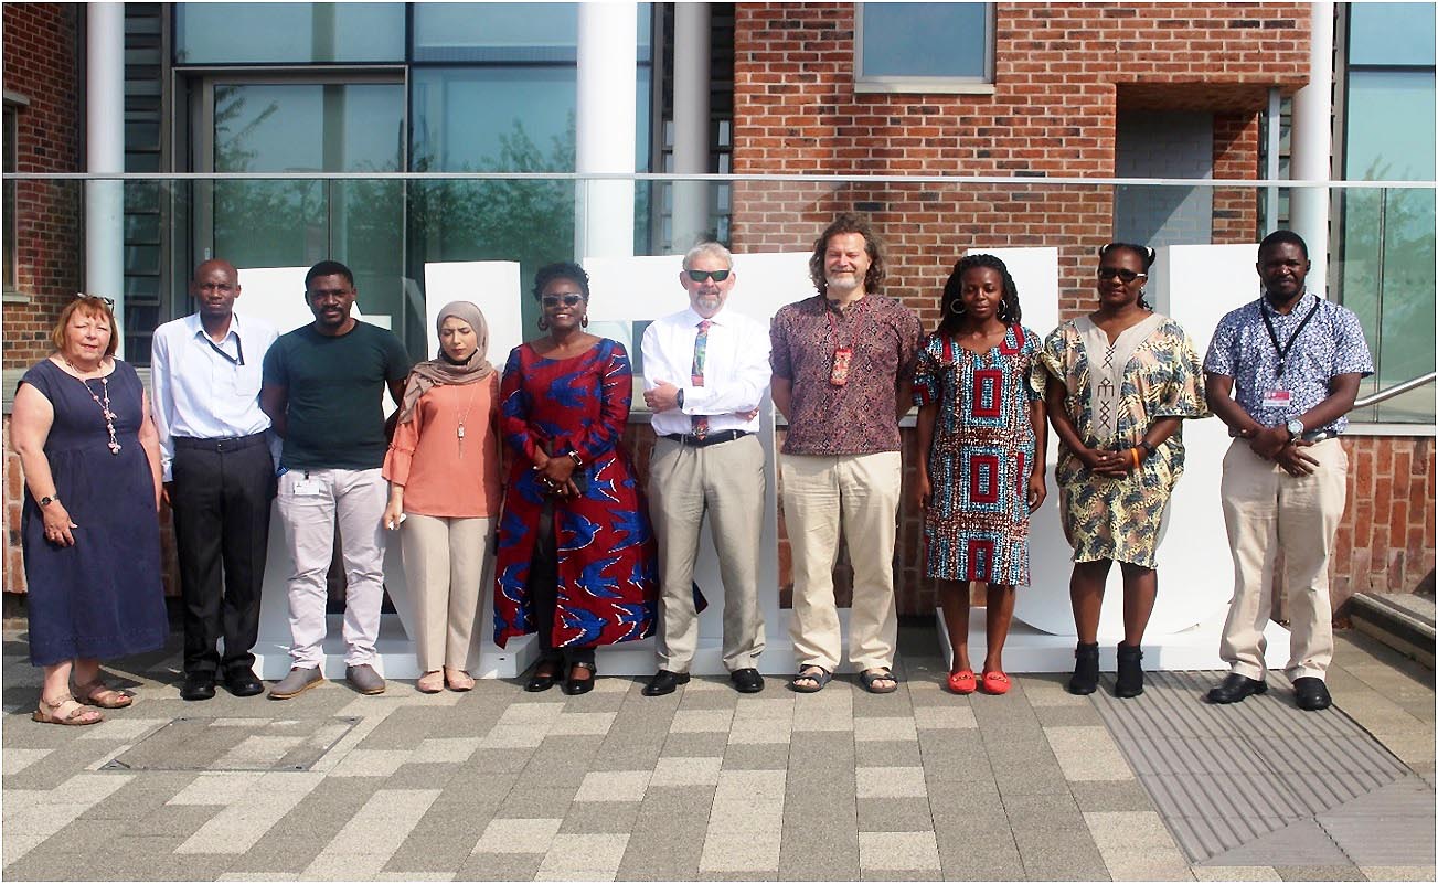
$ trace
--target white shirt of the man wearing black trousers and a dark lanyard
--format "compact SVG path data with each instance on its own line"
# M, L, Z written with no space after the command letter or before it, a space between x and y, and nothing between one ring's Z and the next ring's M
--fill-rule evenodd
M150 410L160 433L165 482L171 480L177 436L230 438L269 430L270 420L260 411L260 379L265 351L278 336L269 323L242 322L237 313L230 316L230 331L219 344L204 332L198 313L155 329Z

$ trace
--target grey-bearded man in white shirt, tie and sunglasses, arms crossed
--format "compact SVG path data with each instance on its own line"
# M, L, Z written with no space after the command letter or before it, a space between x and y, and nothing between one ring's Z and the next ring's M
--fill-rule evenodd
M764 446L759 402L769 385L768 328L725 310L733 257L719 243L684 256L679 282L689 309L644 331L644 401L653 411L649 507L659 538L659 671L644 696L689 681L699 643L695 558L699 528L719 552L723 581L723 664L741 693L764 690L759 549L764 532Z

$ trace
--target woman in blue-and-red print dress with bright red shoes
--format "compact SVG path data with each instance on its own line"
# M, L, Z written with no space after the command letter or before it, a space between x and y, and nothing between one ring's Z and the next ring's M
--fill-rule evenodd
M1018 289L992 254L953 266L942 309L913 378L928 572L953 647L949 689L1004 694L1014 586L1028 585L1028 515L1045 496L1040 339L1018 323ZM988 584L982 680L969 663L971 581Z

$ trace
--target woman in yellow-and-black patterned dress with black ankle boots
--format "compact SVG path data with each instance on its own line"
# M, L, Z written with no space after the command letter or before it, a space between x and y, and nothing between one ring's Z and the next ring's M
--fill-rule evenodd
M1123 569L1123 641L1113 693L1143 693L1143 630L1158 595L1163 507L1183 473L1182 420L1206 417L1194 342L1143 300L1153 250L1099 250L1099 309L1044 342L1048 420L1058 434L1060 517L1074 548L1068 594L1078 648L1068 690L1099 687L1099 612L1109 568Z

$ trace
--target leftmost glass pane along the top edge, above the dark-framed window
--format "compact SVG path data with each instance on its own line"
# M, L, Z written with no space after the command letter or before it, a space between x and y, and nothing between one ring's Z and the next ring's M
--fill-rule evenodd
M403 3L175 6L177 65L403 60Z

